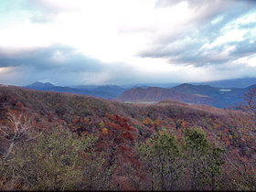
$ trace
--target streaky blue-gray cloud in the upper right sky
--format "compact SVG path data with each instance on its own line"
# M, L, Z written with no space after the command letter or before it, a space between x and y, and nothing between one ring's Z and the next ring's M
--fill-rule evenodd
M159 0L156 7L166 5L176 5L182 1L178 0ZM187 30L178 35L162 37L157 39L157 46L142 51L139 56L148 58L166 58L171 63L179 65L219 65L240 56L249 56L255 53L255 44L250 43L253 34L248 32L244 40L225 43L215 48L203 48L205 44L214 42L222 35L221 29L230 22L235 21L240 16L255 12L256 2L239 0L213 0L213 1L187 1L188 4L199 11L197 19L188 27ZM210 3L209 3L210 2ZM235 4L234 4L235 3ZM219 21L218 21L219 19ZM216 20L216 22L212 22ZM248 29L256 27L256 23L239 24L236 28ZM229 46L234 46L235 50L229 51L229 55L223 55Z

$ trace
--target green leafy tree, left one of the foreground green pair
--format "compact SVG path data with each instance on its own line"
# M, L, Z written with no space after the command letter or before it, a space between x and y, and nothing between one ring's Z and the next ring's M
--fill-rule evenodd
M178 177L183 172L181 154L174 134L160 131L153 135L147 143L137 144L137 153L146 171L146 180L151 186L144 189L174 190Z

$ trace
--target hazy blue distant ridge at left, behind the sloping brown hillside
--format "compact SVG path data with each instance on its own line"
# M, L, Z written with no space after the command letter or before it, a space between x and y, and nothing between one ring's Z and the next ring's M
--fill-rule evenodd
M29 88L32 90L39 90L39 91L58 91L58 92L69 92L69 93L76 93L76 94L84 94L84 95L91 95L100 97L103 99L112 99L117 96L119 96L123 91L125 91L124 88L118 87L118 86L100 86L100 87L94 87L91 89L84 89L80 87L78 88L70 88L70 87L61 87L61 86L55 86L49 82L43 83L43 82L35 82L31 85L27 85L25 88Z

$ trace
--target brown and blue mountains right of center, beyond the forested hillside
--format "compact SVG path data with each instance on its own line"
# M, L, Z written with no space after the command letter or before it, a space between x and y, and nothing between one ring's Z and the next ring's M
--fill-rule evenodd
M256 87L252 85L251 87ZM118 101L154 102L170 99L195 104L207 104L219 108L242 101L242 95L249 88L217 88L208 85L181 84L171 89L150 87L146 89L134 88L123 92L116 98Z

